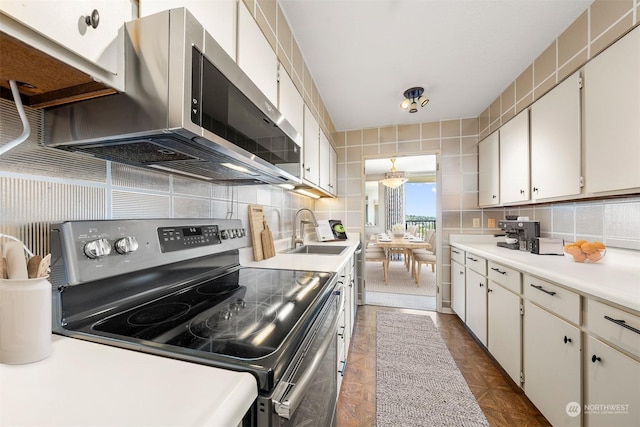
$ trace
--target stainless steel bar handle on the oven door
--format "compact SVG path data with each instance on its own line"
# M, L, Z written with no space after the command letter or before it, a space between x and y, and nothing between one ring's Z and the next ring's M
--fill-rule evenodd
M338 303L338 311L331 322L331 326L329 327L329 332L327 336L324 337L322 344L318 349L318 352L315 354L313 361L307 368L307 370L300 376L298 381L295 384L289 384L287 387L287 391L281 396L281 399L274 400L274 407L276 413L282 418L290 419L293 416L296 408L302 402L304 398L307 388L311 385L311 380L315 376L316 372L320 368L322 361L329 351L331 347L332 341L336 339L336 333L338 331L338 319L340 318L340 313L344 310L344 302L345 302L345 292L346 288L341 286L336 293L340 295L340 302Z

